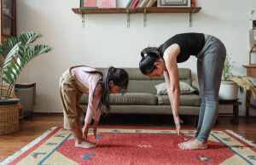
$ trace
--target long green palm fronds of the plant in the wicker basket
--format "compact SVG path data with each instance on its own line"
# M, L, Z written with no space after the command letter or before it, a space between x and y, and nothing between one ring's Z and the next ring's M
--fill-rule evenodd
M0 46L0 53L3 54L3 64L1 64L2 82L9 85L15 84L16 78L20 75L24 66L31 61L38 54L48 53L51 48L48 45L39 44L30 47L33 43L41 37L37 32L25 32L19 37L9 37L3 45Z

